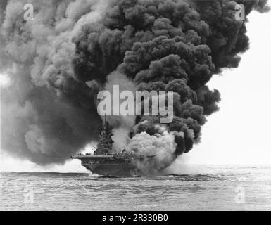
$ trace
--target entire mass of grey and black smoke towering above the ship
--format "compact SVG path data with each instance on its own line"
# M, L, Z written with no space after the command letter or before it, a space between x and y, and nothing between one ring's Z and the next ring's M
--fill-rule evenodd
M23 20L25 3L34 21ZM12 79L1 96L1 148L39 164L65 161L97 139L96 94L121 75L138 90L175 92L170 124L109 119L117 142L125 134L135 150L150 139L142 149L156 146L160 167L170 165L218 110L220 93L207 82L248 49L237 3L246 15L269 10L266 0L1 1L0 70Z

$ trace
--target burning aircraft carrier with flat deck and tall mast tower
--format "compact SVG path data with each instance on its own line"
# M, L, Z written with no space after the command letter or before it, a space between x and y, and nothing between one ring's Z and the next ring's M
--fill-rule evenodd
M82 153L72 155L72 159L81 160L82 166L89 169L93 174L102 176L133 176L142 174L138 169L140 163L152 161L155 155L140 155L128 153L125 149L122 153L112 153L114 141L112 140L111 128L105 120L99 129L99 143L94 153Z

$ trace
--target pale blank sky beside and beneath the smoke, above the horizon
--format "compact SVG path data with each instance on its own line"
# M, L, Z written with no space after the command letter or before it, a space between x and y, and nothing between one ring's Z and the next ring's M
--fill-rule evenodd
M271 164L271 13L253 12L248 18L251 48L243 54L239 68L225 70L209 82L211 89L221 93L220 111L208 117L201 143L178 163ZM0 75L0 84L6 82ZM86 172L77 160L37 167L3 154L0 170Z

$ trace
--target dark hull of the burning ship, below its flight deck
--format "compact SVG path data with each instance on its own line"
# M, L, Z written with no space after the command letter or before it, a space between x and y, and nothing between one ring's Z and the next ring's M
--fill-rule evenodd
M132 163L82 163L92 174L100 176L135 176L139 175Z

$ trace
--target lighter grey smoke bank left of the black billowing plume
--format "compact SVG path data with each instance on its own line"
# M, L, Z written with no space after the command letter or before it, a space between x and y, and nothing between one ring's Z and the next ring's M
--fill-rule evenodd
M2 1L1 1L2 2ZM32 3L34 21L23 20ZM1 11L1 148L39 164L64 162L92 140L101 123L94 89L73 72L73 36L100 20L108 1L8 1ZM95 92L96 93L96 92Z

